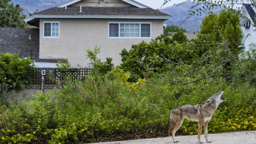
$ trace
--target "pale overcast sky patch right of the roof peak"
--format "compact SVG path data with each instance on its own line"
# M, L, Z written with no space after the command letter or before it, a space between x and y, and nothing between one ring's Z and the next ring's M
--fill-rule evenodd
M164 0L135 0L139 3L142 3L148 7L151 7L153 9L158 9L161 7L161 5L164 3ZM185 0L171 0L170 2L166 3L166 5L164 5L163 8L165 7L170 7L172 6L174 3L181 3Z

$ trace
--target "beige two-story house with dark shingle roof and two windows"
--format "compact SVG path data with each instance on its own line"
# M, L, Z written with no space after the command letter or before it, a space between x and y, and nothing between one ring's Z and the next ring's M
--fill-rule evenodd
M72 67L90 67L85 50L101 47L102 61L121 62L132 44L163 34L170 15L135 0L69 0L32 14L25 22L39 28L39 59L67 58Z

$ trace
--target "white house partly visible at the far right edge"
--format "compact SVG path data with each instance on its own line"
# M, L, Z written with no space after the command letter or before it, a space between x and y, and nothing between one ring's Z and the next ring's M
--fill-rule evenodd
M256 41L255 41L256 31L255 31L255 27L253 26L253 25L256 25L255 12L256 12L256 8L249 4L244 4L240 11L240 13L243 16L246 16L248 18L248 20L245 20L243 18L241 18L240 20L243 34L245 37L247 37L245 39L245 51L249 50L250 44L253 44L253 43L256 44Z

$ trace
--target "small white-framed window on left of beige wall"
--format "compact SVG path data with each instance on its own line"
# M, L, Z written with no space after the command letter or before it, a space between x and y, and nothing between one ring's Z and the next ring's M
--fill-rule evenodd
M43 33L45 38L59 38L59 22L43 22Z

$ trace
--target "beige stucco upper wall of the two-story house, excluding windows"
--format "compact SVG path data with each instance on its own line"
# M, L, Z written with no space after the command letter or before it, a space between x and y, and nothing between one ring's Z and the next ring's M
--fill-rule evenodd
M59 38L43 38L43 21L59 21ZM108 22L151 22L151 38L108 38ZM132 44L149 42L163 33L162 20L120 20L120 19L40 19L40 58L67 58L72 67L88 67L86 49L101 47L98 57L105 61L113 58L119 65L123 48L129 50Z

